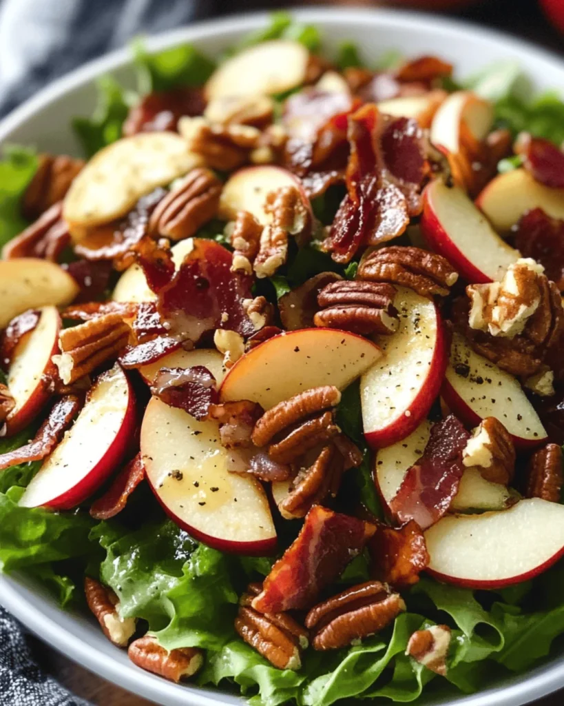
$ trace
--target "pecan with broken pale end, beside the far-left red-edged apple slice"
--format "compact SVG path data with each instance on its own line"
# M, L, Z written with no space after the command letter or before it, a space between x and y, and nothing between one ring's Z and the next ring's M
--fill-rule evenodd
M118 313L106 313L59 335L60 355L51 360L65 385L89 375L106 361L118 357L130 335L129 326Z

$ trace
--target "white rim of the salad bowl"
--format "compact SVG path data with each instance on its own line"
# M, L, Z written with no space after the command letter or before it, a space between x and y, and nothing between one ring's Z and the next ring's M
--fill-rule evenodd
M368 22L373 25L390 24L396 28L417 32L430 31L434 35L468 37L472 35L481 42L505 48L511 52L522 54L524 61L532 58L551 64L552 69L562 76L561 90L564 91L564 68L562 58L554 52L538 47L532 42L522 40L515 35L483 28L477 23L436 16L434 13L393 10L387 8L334 8L321 6L315 8L291 8L293 17L308 23L345 23L354 26ZM229 15L222 18L206 20L187 25L183 28L161 32L153 37L147 37L145 44L149 51L159 51L183 42L202 41L214 35L231 35L238 32L251 31L266 23L268 12L243 13L237 16ZM51 102L63 97L66 93L92 82L98 76L115 71L130 64L130 50L125 47L117 49L99 59L88 62L85 66L75 69L62 76L50 85L40 90L35 96L25 101L0 121L0 146L20 124L29 119ZM39 599L37 592L26 587L25 582L18 582L16 577L8 577L0 573L0 604L10 611L18 620L39 638L48 642L51 647L59 650L74 662L90 669L98 676L123 686L123 688L139 696L149 698L164 705L212 706L221 702L231 704L243 703L243 699L233 698L225 690L208 690L195 688L190 684L178 686L158 676L138 669L133 663L123 664L113 656L104 654L95 646L88 644L61 625L32 600ZM67 614L74 619L72 614ZM64 622L64 621L63 621ZM445 706L522 706L531 700L546 696L564 686L564 659L553 664L536 667L525 674L510 678L510 683L501 684L478 692L474 695L447 697L441 702Z

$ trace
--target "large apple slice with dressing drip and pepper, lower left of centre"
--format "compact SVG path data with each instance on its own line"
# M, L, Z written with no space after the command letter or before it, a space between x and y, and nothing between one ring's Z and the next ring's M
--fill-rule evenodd
M147 479L177 525L204 544L236 554L276 546L266 493L250 476L227 470L215 421L197 421L153 397L141 426Z

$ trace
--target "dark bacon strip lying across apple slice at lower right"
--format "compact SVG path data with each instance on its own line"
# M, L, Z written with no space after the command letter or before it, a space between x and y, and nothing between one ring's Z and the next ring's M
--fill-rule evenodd
M453 414L431 429L422 457L405 474L390 510L399 522L415 520L427 530L450 507L464 472L462 451L470 433Z

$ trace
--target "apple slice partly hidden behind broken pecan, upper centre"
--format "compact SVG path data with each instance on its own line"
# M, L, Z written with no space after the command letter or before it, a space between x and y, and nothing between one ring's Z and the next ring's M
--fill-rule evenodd
M312 208L300 180L292 172L274 164L264 164L259 167L243 167L226 181L221 191L219 201L219 217L234 220L238 211L248 211L259 223L266 225L271 222L271 215L264 211L266 195L284 186L295 186L307 208L309 220L312 218Z

